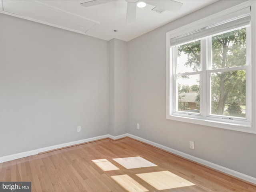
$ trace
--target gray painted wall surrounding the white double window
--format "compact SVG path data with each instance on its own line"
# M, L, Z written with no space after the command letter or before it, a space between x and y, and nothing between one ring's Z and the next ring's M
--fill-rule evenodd
M128 133L256 177L255 134L166 119L166 32L241 2L219 1L128 42Z

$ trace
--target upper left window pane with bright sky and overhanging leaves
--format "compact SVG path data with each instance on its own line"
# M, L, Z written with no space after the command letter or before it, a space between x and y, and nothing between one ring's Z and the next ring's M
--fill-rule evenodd
M201 70L201 42L195 41L178 46L178 73Z

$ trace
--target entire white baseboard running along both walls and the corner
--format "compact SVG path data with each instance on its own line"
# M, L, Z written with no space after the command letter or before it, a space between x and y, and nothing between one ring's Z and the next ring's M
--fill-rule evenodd
M256 178L254 178L252 176L248 176L246 174L231 170L229 168L214 164L212 162L194 157L192 155L180 152L178 150L169 148L167 146L164 146L164 145L161 145L161 144L158 144L158 143L152 142L150 140L146 140L144 138L141 138L141 137L138 137L138 136L135 136L135 135L132 135L132 134L128 134L128 133L122 134L122 135L119 135L119 136L112 136L110 134L106 134L106 135L102 135L102 136L87 138L87 139L83 139L83 140L78 140L78 141L68 142L68 143L64 143L64 144L58 144L58 145L54 145L54 146L39 148L39 149L36 149L36 150L27 151L27 152L22 152L22 153L12 154L12 155L8 155L8 156L3 156L3 157L0 157L0 163L6 162L6 161L11 161L11 160L14 160L14 159L27 157L27 156L31 156L31 155L35 155L35 154L38 154L38 153L42 153L42 152L46 152L46 151L50 151L50 150L54 150L54 149L58 149L58 148L68 147L68 146L72 146L72 145L76 145L76 144L82 144L82 143L86 143L86 142L92 142L92 141L96 141L96 140L100 140L100 139L104 139L104 138L111 138L113 140L117 140L117 139L124 138L124 137L130 137L130 138L136 139L138 141L150 144L150 145L155 146L157 148L160 148L162 150L166 150L170 153L176 154L176 155L181 156L183 158L192 160L194 162L197 162L199 164L208 166L208 167L213 168L215 170L224 172L226 174L229 174L229 175L232 175L234 177L240 178L242 180L245 180L245 181L251 182L253 184L256 184Z

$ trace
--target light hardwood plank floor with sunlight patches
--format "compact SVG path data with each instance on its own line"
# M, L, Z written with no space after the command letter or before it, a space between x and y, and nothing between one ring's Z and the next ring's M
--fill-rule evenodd
M0 164L32 192L256 192L256 186L131 138L104 139Z

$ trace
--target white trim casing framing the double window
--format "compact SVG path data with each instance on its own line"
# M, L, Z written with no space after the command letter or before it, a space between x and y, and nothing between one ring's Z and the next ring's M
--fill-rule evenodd
M256 34L256 2L254 0L249 0L217 14L208 16L186 26L180 27L178 29L172 30L166 33L166 118L170 120L182 121L182 122L189 122L193 124L200 124L204 126L212 126L217 128L224 128L228 130L236 130L240 132L248 132L256 134L256 127L255 127L255 118L256 115L256 77L252 74L256 74L256 56L255 54L251 55L251 70L250 70L250 78L253 84L251 89L251 122L248 125L240 125L236 123L228 123L228 122L220 122L216 120L206 120L200 118L193 118L190 115L186 116L176 116L173 113L173 95L174 95L174 87L175 84L173 83L173 73L172 68L170 67L170 61L172 60L172 55L170 54L170 39L174 38L179 35L186 34L191 31L198 30L203 28L204 26L209 26L210 24L216 24L218 22L222 22L223 20L230 18L233 12L239 11L242 8L246 8L251 6L251 34ZM235 15L234 15L235 16ZM256 52L256 37L251 35L251 52ZM172 80L172 81L171 81ZM170 84L172 82L172 84ZM200 93L201 95L201 93ZM206 97L204 97L206 98ZM200 98L201 99L201 98Z

